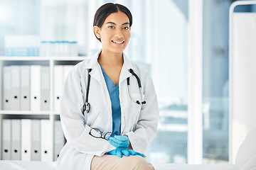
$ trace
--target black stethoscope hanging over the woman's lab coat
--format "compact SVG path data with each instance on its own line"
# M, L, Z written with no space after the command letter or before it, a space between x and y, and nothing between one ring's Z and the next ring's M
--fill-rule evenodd
M89 95L89 89L90 89L90 72L92 71L92 69L88 69L88 80L87 80L87 87L86 87L86 96L85 96L85 104L82 106L82 114L84 115L84 112L86 111L87 113L90 112L90 103L88 102L88 95ZM138 85L139 85L139 91L140 91L140 95L141 95L141 99L142 99L142 84L141 81L138 77L137 74L134 73L133 69L129 69L129 72L136 77ZM129 96L132 99L132 101L134 103L137 103L138 105L143 105L146 104L146 101L139 102L139 101L135 101L134 98L132 98L131 93L130 93L130 84L129 84L129 77L127 78L127 86L128 86L128 92L129 92Z

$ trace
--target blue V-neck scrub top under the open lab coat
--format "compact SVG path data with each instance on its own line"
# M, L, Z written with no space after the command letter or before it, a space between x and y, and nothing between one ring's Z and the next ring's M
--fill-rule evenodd
M100 64L100 63L99 63ZM110 94L110 101L112 106L112 133L115 135L120 135L121 128L121 107L119 101L119 83L117 86L114 85L114 81L107 76L104 69L100 65L102 69L102 74L107 84L107 90Z

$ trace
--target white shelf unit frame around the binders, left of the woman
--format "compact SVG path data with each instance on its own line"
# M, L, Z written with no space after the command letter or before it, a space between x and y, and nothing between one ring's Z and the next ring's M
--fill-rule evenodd
M48 126L48 140L50 141L50 161L54 160L54 125L55 120L60 120L60 113L58 109L56 109L55 103L55 79L57 75L55 74L55 67L60 65L75 65L82 60L86 60L87 57L0 57L0 159L3 158L2 155L2 144L3 144L3 120L49 120ZM47 67L49 70L49 108L47 111L43 111L44 109L40 109L38 111L31 111L28 109L26 111L21 110L13 110L13 108L6 110L3 107L3 94L4 94L4 67L8 66L41 66ZM10 130L8 130L10 131Z

